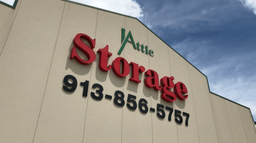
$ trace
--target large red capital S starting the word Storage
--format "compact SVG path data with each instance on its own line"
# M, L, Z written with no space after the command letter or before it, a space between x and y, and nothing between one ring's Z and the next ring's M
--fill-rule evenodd
M91 48L88 45L86 45L80 38L86 39L89 42ZM77 34L73 40L73 43L76 47L72 48L71 54L70 54L70 59L74 58L74 59L76 59L76 61L78 61L78 63L80 63L82 65L91 64L96 59L96 55L95 55L94 51L92 50L95 47L95 42L96 42L96 39L92 40L89 36L87 36L85 34L81 34L81 33ZM78 54L76 53L76 48L79 49L80 51L82 51L88 57L88 61L85 61L78 56Z

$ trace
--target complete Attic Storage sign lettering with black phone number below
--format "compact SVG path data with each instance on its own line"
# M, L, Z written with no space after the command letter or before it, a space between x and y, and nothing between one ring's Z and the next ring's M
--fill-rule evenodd
M85 39L86 41L88 41L90 47L88 45L86 45L82 40ZM130 39L130 41L129 41ZM123 51L123 49L125 48L125 45L127 42L132 43L134 49L136 49L137 51L141 51L142 53L146 53L148 55L150 55L150 57L154 57L154 51L150 50L149 47L147 45L140 45L139 41L138 43L134 42L134 39L132 37L132 33L131 31L128 32L127 36L125 37L125 29L122 28L122 45L118 51L118 55L120 55ZM78 63L81 64L81 66L86 66L86 65L90 65L91 63L93 63L96 59L96 54L94 53L93 49L95 48L95 43L96 43L96 39L91 39L88 35L86 34L82 34L79 33L74 37L73 40L74 43L74 47L71 50L70 53L70 59L75 59ZM76 48L78 50L80 50L82 53L84 53L88 60L83 60L81 57L79 57L78 53L76 52ZM108 58L112 56L112 53L110 53L108 51L108 45L106 45L106 47L104 47L103 49L99 49L97 51L97 53L99 53L99 69L103 72L108 72L112 69L112 71L114 72L114 74L116 76L118 76L119 78L124 78L126 77L131 70L131 77L129 78L129 80L131 82L135 82L137 84L140 84L141 80L139 80L139 73L143 73L145 74L146 78L144 79L144 84L147 88L153 88L156 91L159 91L162 93L161 94L161 98L162 100L166 101L166 102L174 102L176 101L176 99L178 98L179 100L185 100L188 98L188 91L186 86L182 83L182 82L177 82L174 84L173 80L174 77L173 76L164 76L162 78L159 78L158 73L156 71L153 71L151 69L146 69L142 66L142 65L138 65L136 64L136 61L126 61L126 59L124 59L123 57L117 57L116 59L114 59L114 61L112 62L112 64L108 64ZM144 49L145 48L145 49ZM131 68L130 68L131 67ZM69 83L68 80L72 79L73 82ZM160 79L160 84L159 85L159 79ZM63 89L67 92L74 92L77 88L77 80L74 76L72 75L66 75L64 77L64 84L63 85ZM83 93L82 96L88 96L88 88L89 88L89 82L88 80L86 81L81 81L80 85L83 86ZM96 89L95 92L91 92L90 95L92 98L94 98L95 100L102 100L102 98L104 97L104 87L102 87L100 84L98 83L94 83L92 85L93 89ZM174 92L171 91L171 89L173 89ZM97 94L95 94L97 93ZM124 101L124 93L122 91L117 90L114 94L114 103L117 106L124 106L125 105L125 101ZM127 103L126 106L130 109L130 110L136 110L137 108L137 102L136 100L136 95L132 95L132 94L128 94L128 99L127 99ZM110 100L112 100L112 95L108 95L105 94L105 98L108 98ZM144 98L141 98L138 102L138 108L140 110L140 112L142 112L143 114L146 114L148 112L148 105L147 105L147 100ZM164 105L162 104L157 104L156 105L156 111L157 111L157 116L159 118L165 118L165 112L163 110ZM173 108L166 106L165 107L166 110L169 110L169 115L168 115L168 120L171 121L171 116L172 116L172 112L173 112ZM155 108L151 108L150 107L150 111L155 112ZM182 116L186 116L186 123L185 125L188 125L188 118L189 118L189 114L186 112L181 112L179 110L174 110L174 116L175 116L175 121L177 123L182 123L183 119Z

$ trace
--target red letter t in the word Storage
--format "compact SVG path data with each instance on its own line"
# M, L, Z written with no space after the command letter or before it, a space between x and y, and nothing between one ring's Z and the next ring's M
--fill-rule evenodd
M112 56L112 53L108 52L108 45L104 49L97 51L100 53L99 68L101 71L107 72L111 69L111 65L108 65L108 57Z

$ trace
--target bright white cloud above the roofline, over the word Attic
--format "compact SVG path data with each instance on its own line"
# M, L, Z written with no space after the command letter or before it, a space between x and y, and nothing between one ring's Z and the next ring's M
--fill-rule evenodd
M96 8L132 16L142 20L144 14L142 8L135 0L70 0Z

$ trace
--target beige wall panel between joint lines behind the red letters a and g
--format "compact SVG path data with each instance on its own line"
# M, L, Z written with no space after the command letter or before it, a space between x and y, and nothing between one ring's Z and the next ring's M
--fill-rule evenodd
M154 51L154 57L149 58L150 69L158 73L159 80L164 76L170 77L169 47L149 30L148 47ZM166 106L168 106L175 110L174 103L165 102L162 100L160 95L160 91L157 92L153 88L150 88L151 107L156 109L157 104L162 104L164 105L164 111L166 114L166 117L161 119L156 115L156 112L152 113L153 142L165 143L172 141L173 143L178 143L177 125L174 121L174 112L172 113L172 121L168 121L169 111L165 109Z

